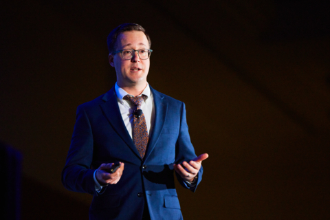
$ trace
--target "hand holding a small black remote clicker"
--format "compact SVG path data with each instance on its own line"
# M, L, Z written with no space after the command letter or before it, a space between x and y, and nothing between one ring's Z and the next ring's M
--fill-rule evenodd
M101 166L96 170L95 176L101 186L107 184L117 184L122 177L122 171L124 170L124 163L120 162L120 167L115 171L115 173L109 173L111 166L114 164L101 164Z

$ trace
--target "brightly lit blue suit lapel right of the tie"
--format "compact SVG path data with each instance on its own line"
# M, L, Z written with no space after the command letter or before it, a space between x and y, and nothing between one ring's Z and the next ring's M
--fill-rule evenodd
M153 148L155 148L155 145L159 139L159 135L162 133L168 107L168 103L164 102L164 96L159 94L159 92L155 91L155 89L152 87L150 87L150 89L153 93L153 102L155 103L155 122L153 126L153 133L151 134L148 147L146 148L146 155L144 155L144 160L148 159L148 156L153 151Z

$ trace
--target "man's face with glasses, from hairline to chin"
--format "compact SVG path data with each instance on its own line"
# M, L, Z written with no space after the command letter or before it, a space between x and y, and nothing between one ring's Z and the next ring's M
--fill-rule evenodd
M123 49L150 49L148 39L144 32L130 31L123 32L118 36L116 51ZM109 55L109 63L115 67L117 82L120 87L130 87L134 85L146 85L150 58L141 60L135 52L131 60L124 60L120 53Z

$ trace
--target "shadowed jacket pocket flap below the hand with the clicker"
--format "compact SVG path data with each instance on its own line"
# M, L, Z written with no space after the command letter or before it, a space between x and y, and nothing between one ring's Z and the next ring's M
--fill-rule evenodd
M120 205L120 195L100 195L91 201L91 210L115 208Z

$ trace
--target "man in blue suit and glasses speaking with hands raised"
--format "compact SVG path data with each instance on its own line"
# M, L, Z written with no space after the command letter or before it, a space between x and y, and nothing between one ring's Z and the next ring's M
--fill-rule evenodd
M184 188L201 181L208 155L195 155L184 103L146 81L150 46L140 25L115 28L108 47L117 83L77 109L62 182L94 195L90 219L182 219L173 169Z

